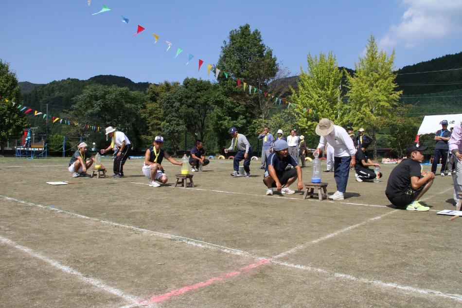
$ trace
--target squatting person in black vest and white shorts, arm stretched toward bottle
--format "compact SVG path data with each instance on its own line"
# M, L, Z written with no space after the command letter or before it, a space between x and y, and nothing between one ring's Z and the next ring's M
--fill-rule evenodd
M163 137L156 136L154 138L153 146L146 150L144 153L143 174L149 179L149 186L159 187L160 183L165 184L168 181L167 175L164 173L162 167L162 160L165 157L170 163L178 166L183 165L168 155L167 152L162 150Z

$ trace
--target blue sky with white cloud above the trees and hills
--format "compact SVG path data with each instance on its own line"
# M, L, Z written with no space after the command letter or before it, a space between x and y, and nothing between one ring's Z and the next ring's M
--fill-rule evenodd
M92 16L102 3L112 10ZM306 68L308 53L332 51L339 66L354 68L371 34L385 51L395 49L396 69L462 51L462 0L2 0L0 12L0 59L33 83L99 74L213 80L207 64L245 23L260 30L290 75ZM146 30L132 38L138 24ZM173 44L168 52L165 40ZM184 51L174 59L178 48ZM188 54L195 57L186 66Z

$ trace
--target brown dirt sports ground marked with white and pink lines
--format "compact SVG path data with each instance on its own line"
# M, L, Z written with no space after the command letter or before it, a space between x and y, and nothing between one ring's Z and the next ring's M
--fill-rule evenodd
M255 161L231 178L213 160L186 189L170 163L155 188L142 159L122 179L72 179L68 161L0 158L0 307L462 307L462 218L436 214L454 209L450 176L413 212L388 207L394 165L319 201L265 196Z

